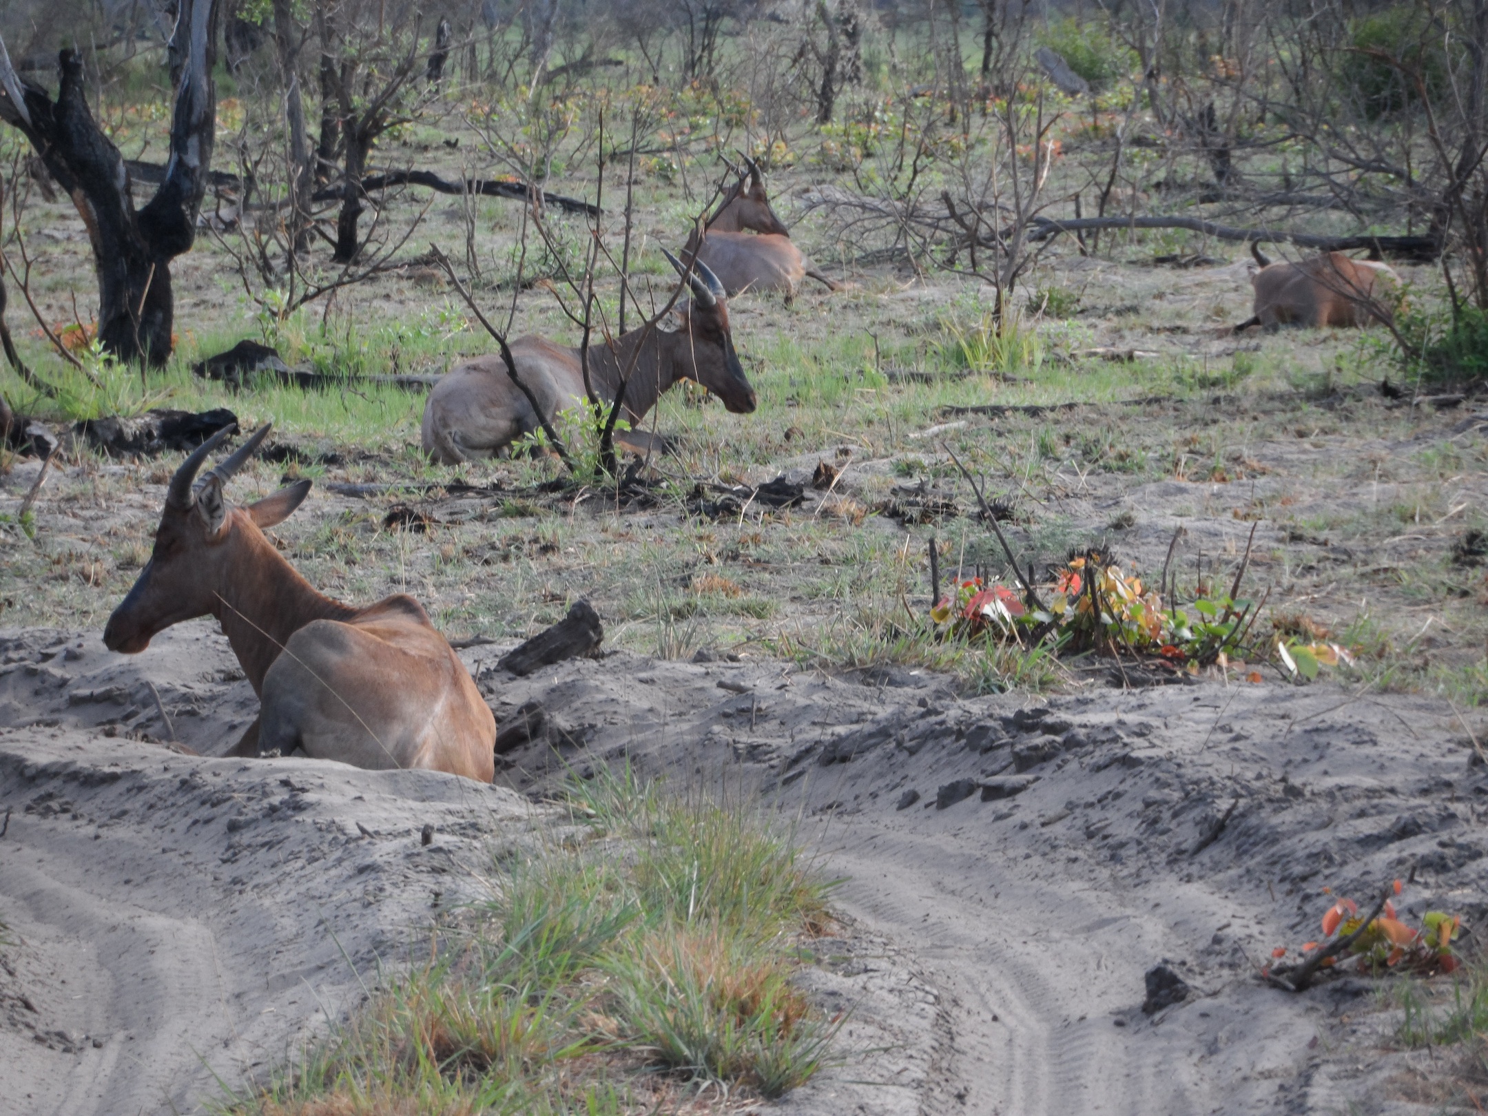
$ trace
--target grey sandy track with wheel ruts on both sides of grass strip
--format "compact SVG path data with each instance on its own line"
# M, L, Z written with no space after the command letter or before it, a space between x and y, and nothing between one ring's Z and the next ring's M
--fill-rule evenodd
M1324 885L1400 876L1415 914L1488 915L1488 771L1442 704L1269 683L1030 704L623 652L516 680L501 650L466 653L482 690L548 729L484 789L152 743L220 750L251 710L205 622L134 658L0 634L0 1112L192 1112L213 1074L263 1073L478 893L536 823L513 792L626 759L763 793L845 876L805 978L853 1007L845 1062L783 1112L1426 1110L1370 982L1292 997L1254 967L1314 936ZM1159 963L1192 992L1149 1016Z

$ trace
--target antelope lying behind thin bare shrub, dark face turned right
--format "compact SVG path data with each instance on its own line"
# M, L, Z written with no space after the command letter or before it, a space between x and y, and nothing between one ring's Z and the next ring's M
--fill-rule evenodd
M670 251L667 259L679 274L686 274L682 262ZM683 311L682 329L674 333L659 329L631 330L622 333L613 345L589 347L589 382L604 403L615 402L620 378L631 369L620 414L632 427L631 436L625 439L632 445L646 445L644 434L634 427L661 393L679 379L702 384L737 415L750 414L757 402L734 351L723 286L704 263L696 265L689 284L692 305ZM518 338L509 348L518 378L548 418L585 403L579 350L534 336ZM512 442L539 426L537 414L512 382L501 356L476 357L451 369L429 393L423 424L424 452L439 464L504 455Z

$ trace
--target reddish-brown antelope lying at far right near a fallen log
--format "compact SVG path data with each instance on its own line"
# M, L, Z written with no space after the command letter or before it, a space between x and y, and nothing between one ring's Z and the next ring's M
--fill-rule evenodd
M1329 251L1301 263L1272 263L1254 241L1250 253L1260 265L1250 277L1254 314L1235 326L1275 330L1278 326L1369 326L1390 321L1400 277L1384 263ZM1376 298L1378 295L1378 298Z

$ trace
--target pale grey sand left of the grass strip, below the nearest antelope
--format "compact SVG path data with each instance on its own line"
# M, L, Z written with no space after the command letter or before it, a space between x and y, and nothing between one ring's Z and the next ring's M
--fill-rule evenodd
M449 775L129 740L150 717L170 735L156 677L190 680L158 692L196 745L251 701L222 682L237 662L202 625L131 661L34 629L0 647L6 1116L199 1110L217 1079L283 1064L356 1007L531 829L519 795Z

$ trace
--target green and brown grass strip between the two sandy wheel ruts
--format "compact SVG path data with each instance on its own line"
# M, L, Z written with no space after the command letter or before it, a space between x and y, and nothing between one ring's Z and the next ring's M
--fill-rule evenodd
M491 899L231 1116L629 1113L778 1097L839 1021L792 976L830 882L753 804L629 772L576 783L571 824L494 866Z

